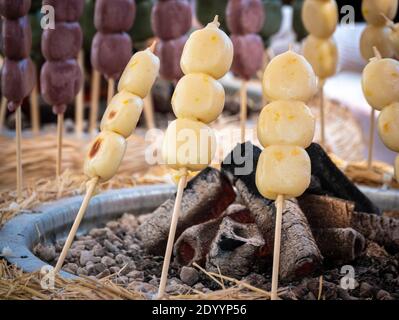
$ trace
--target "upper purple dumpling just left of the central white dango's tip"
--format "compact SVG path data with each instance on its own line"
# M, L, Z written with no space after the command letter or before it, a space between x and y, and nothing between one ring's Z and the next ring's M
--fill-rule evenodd
M191 19L191 6L185 0L158 1L152 8L152 30L161 40L186 34L191 28Z

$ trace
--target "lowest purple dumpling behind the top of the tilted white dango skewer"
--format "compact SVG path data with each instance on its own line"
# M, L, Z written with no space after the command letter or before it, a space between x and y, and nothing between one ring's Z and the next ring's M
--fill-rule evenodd
M107 78L118 79L132 56L132 41L127 33L96 33L91 63Z

